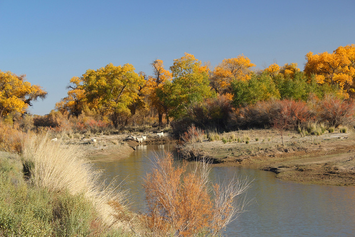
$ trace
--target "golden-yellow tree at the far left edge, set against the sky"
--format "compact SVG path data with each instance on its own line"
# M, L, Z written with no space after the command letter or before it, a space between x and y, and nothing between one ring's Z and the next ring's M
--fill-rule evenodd
M25 75L0 71L0 119L8 113L25 113L31 102L44 99L47 92L25 81Z

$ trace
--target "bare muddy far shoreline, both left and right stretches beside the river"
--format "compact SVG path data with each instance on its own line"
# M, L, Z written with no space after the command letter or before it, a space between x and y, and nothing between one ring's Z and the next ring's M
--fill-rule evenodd
M175 144L169 133L159 138L155 131L144 132L143 144ZM93 136L71 142L79 145L94 161L112 160L129 156L139 145L131 134ZM140 135L140 134L132 134ZM348 133L324 133L320 136L304 136L286 132L282 146L281 137L275 130L254 129L220 134L234 140L221 140L194 144L195 152L213 158L217 166L252 166L272 171L276 177L301 183L319 185L355 185L355 135ZM242 142L248 138L248 143ZM68 141L67 141L68 144ZM141 143L142 144L142 143ZM189 149L187 147L187 149ZM192 148L191 148L192 149Z

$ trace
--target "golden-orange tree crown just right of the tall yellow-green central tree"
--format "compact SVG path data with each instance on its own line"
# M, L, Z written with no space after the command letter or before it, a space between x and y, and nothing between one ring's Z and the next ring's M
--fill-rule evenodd
M243 54L236 58L224 59L211 74L211 86L219 94L231 93L231 82L235 79L249 80L251 67L255 67L255 64Z

